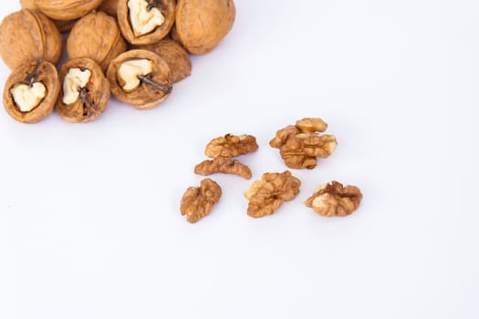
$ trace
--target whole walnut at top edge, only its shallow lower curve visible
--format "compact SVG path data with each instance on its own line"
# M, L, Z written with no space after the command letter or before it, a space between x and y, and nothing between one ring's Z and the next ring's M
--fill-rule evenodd
M35 0L36 7L55 20L75 20L96 9L102 0Z

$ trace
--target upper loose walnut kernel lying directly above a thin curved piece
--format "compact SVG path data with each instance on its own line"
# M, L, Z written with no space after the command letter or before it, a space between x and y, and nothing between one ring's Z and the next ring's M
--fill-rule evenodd
M209 158L235 158L240 155L254 152L258 149L258 144L253 135L232 135L226 134L224 137L212 139L204 154Z

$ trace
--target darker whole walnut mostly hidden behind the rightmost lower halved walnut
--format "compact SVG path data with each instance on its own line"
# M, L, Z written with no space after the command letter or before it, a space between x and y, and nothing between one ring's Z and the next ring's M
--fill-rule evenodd
M188 53L173 40L163 39L156 44L140 46L139 48L154 52L165 60L172 69L173 82L181 81L192 73L192 61Z

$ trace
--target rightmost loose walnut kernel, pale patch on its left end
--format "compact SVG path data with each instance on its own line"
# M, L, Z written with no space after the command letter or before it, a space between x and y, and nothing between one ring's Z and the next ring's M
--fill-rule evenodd
M361 199L358 187L343 187L340 182L333 180L314 190L313 196L305 204L322 216L348 216L358 208Z

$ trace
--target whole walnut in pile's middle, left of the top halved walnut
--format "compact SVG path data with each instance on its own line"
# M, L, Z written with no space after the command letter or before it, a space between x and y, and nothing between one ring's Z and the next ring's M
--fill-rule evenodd
M70 59L89 57L106 71L109 62L125 52L126 42L114 17L92 12L78 20L67 40Z

